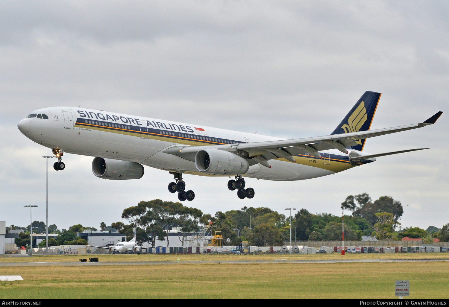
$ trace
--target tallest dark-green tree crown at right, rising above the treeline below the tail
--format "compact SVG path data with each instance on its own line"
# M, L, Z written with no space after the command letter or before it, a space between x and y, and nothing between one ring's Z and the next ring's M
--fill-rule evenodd
M341 203L341 208L352 211L353 216L360 216L366 219L370 225L377 223L376 212L388 212L393 214L393 221L396 227L398 220L401 218L404 210L399 201L394 200L390 196L381 196L374 202L367 193L356 196L349 195L346 200Z

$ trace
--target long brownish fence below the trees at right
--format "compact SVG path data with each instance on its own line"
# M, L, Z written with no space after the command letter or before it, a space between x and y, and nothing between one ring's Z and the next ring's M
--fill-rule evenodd
M290 245L290 241L284 241L284 245ZM308 247L341 246L341 241L291 241L291 245ZM344 246L422 246L423 241L344 241ZM449 242L436 242L435 246L449 247Z

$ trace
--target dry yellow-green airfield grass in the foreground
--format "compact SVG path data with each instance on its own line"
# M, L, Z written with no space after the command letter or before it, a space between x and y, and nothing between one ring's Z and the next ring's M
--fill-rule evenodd
M442 254L436 254L442 256ZM15 258L78 261L82 255ZM276 256L276 257L272 257ZM335 259L341 255L315 256ZM349 255L345 255L346 257ZM371 256L367 255L350 255ZM377 254L387 258L387 254ZM404 258L408 254L388 254ZM392 257L395 256L395 257ZM401 256L401 257L396 257ZM422 257L423 254L414 254ZM425 254L428 259L429 254ZM433 255L432 255L433 256ZM290 259L289 255L100 255L100 261ZM304 259L303 257L300 257ZM355 257L357 258L357 257ZM408 258L408 257L407 257ZM415 258L415 257L414 257ZM422 257L424 258L424 257ZM441 258L441 257L439 257ZM1 261L11 257L1 258ZM409 298L449 298L449 262L176 264L89 267L0 267L0 298L395 298L394 281L410 280Z

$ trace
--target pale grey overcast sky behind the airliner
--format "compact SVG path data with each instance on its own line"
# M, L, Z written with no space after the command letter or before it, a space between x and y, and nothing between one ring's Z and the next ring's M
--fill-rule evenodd
M31 111L78 106L298 138L328 135L363 94L381 92L371 129L448 111L447 1L1 1L0 220L45 221L45 159L23 136ZM368 153L431 147L312 180L247 180L238 199L225 178L185 175L185 205L203 213L267 206L341 214L348 195L402 202L403 227L449 223L444 113L430 127L366 141ZM49 224L99 228L141 200L177 201L172 175L101 180L91 157L49 161ZM349 211L346 212L350 214Z

